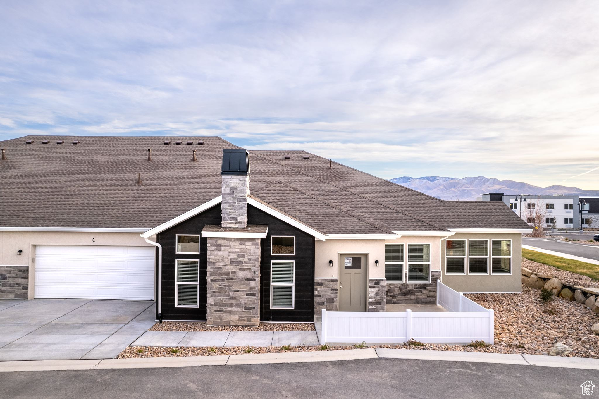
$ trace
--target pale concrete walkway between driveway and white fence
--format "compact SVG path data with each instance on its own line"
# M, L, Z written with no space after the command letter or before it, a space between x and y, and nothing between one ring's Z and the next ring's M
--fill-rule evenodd
M316 346L316 331L146 331L131 346Z

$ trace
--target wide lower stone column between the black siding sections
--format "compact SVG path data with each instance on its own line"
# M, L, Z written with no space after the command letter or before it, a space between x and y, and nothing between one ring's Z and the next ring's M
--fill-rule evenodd
M260 239L208 238L206 256L207 324L258 325Z

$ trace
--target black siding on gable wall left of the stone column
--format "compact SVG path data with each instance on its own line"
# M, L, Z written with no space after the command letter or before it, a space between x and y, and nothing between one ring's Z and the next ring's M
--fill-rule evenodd
M206 319L206 249L207 239L199 238L199 255L177 253L177 234L202 234L205 225L220 225L220 205L190 217L158 234L162 246L162 319L205 320ZM175 261L176 259L199 259L199 307L175 307ZM158 307L157 307L158 309Z

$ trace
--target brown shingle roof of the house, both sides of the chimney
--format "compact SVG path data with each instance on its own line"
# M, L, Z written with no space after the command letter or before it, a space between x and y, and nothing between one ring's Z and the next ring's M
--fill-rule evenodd
M0 226L148 229L219 196L222 150L240 148L154 136L26 136L0 147ZM250 165L252 198L324 234L529 228L503 202L438 200L303 151L250 150Z

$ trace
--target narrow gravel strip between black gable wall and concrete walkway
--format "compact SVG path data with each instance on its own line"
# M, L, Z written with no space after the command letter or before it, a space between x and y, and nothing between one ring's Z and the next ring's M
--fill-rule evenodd
M314 323L261 323L256 327L211 326L206 322L162 322L148 331L314 331Z

